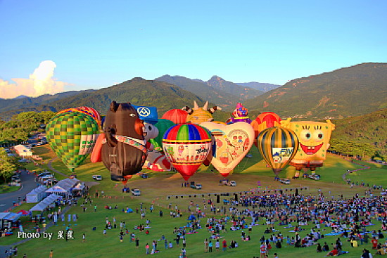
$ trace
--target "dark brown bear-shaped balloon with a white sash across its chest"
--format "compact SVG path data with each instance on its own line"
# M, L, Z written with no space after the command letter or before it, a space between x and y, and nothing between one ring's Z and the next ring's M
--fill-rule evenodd
M144 124L130 103L110 103L103 134L97 141L91 162L102 160L112 180L127 181L141 171L147 155Z

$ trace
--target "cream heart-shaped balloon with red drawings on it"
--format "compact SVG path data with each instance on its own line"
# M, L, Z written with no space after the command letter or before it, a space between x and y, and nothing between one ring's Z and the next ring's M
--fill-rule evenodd
M203 122L201 126L214 138L211 164L222 176L228 176L253 146L253 127L246 122L227 125Z

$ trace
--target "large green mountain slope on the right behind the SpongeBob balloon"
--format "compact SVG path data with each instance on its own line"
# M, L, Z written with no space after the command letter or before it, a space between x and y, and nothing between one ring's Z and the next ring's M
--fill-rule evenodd
M387 63L362 63L293 79L244 104L303 120L364 115L387 108Z

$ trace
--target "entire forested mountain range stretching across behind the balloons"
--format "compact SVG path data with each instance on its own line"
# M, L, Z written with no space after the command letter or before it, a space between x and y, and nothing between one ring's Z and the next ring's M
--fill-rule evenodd
M254 83L246 83L252 86ZM87 105L104 114L111 101L156 106L159 114L172 108L220 105L224 112L215 117L229 117L241 102L255 118L260 112L277 112L281 117L303 120L364 115L387 108L387 63L362 63L321 75L293 79L265 93L214 76L207 82L165 75L155 80L133 78L107 88L68 91L37 98L0 99L0 117L8 120L25 111L58 111ZM269 88L266 88L269 89Z

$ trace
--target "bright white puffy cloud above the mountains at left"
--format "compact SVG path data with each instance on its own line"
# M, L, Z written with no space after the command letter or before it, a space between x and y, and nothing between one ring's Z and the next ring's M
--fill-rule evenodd
M15 83L0 79L0 98L15 98L19 95L37 97L42 94L54 94L63 91L66 82L53 78L56 64L52 60L44 60L39 64L29 79L12 78Z

